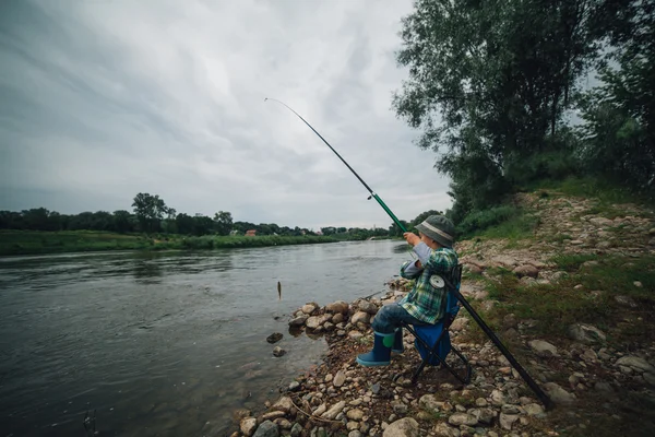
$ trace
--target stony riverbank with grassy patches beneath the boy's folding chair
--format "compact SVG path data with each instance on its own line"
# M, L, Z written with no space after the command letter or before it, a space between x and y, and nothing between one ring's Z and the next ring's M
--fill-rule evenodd
M516 198L539 222L531 238L456 247L463 294L556 409L544 410L465 310L451 332L473 365L471 383L433 367L412 383L420 358L408 333L390 366L358 366L371 319L410 286L393 280L380 298L299 308L289 330L324 335L324 363L281 387L262 412L237 412L233 436L653 435L653 216L556 194Z

